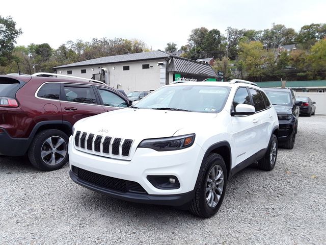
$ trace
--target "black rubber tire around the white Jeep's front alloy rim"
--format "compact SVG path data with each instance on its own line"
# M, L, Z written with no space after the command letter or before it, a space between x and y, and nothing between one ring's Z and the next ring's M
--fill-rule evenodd
M220 186L222 189L222 193L219 190L216 190L220 193L220 198L219 200L216 200L217 202L214 202L215 200L214 197L217 198L219 195L216 194L215 190L211 191L210 194L213 193L212 194L213 202L212 202L212 207L210 207L209 204L207 203L209 201L206 201L206 194L208 193L208 191L206 192L206 187L208 186L210 188L213 188L212 187L213 183L211 184L211 186L209 186L208 183L208 178L212 177L211 171L213 168L215 169L214 171L218 169L218 173L220 173L220 175L223 177L223 186L221 186L222 183L217 185L217 187ZM223 175L221 174L221 170ZM217 181L215 180L214 183L217 184L216 182L219 181L221 181L221 178L218 178ZM195 197L191 201L191 205L189 206L189 211L194 215L203 218L209 218L212 215L214 215L216 212L218 212L224 199L226 182L227 182L227 170L226 170L224 159L219 154L215 154L215 153L209 154L207 158L204 160L202 170L199 173L198 183L197 186L195 187Z

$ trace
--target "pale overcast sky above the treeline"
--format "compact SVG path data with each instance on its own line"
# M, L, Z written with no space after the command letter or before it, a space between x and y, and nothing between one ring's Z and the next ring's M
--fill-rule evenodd
M153 50L168 42L187 43L191 31L206 27L263 30L273 23L299 31L305 24L326 22L325 0L224 1L2 1L0 15L11 15L23 34L17 45L92 38L137 38Z

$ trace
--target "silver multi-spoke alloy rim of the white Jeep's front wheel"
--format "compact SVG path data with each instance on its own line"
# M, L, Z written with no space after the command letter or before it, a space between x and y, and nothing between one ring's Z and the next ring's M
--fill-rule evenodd
M214 208L220 201L224 186L224 174L220 165L214 165L206 180L206 202Z

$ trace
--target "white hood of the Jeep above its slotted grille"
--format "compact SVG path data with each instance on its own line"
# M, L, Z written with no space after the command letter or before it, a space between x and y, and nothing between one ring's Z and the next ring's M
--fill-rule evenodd
M87 117L76 122L75 130L129 139L173 136L180 129L196 133L198 127L216 117L216 113L121 109Z

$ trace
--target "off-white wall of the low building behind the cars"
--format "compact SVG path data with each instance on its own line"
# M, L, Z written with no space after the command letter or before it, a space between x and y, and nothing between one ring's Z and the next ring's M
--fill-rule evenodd
M107 73L105 75L110 75L108 80L108 83L110 84L108 85L111 87L117 88L117 85L119 84L119 88L124 89L125 91L155 90L163 85L160 84L160 66L157 65L158 62L163 61L165 60L147 60L116 64L60 68L57 69L57 74L60 74L61 71L63 75L67 75L67 71L71 70L71 76L92 78L93 74L99 73L102 67L106 67ZM149 69L143 69L143 64L149 64L149 66L153 67ZM129 70L123 70L123 66L127 65L129 65ZM93 71L92 68L94 69ZM86 69L86 74L81 73L82 69Z

